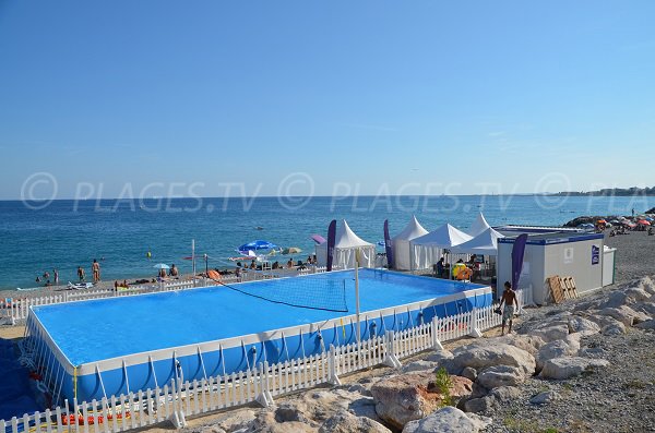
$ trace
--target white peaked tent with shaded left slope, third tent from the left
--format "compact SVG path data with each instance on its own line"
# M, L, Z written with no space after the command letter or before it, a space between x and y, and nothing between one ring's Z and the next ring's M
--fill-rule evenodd
M472 239L473 237L450 224L444 224L437 230L414 239L409 242L414 268L427 269L432 267L439 261L443 249L451 249Z

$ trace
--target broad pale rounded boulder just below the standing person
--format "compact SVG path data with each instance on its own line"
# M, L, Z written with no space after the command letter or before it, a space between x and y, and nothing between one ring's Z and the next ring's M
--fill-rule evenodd
M532 354L517 347L498 342L493 338L458 347L453 350L453 365L460 372L466 366L481 371L489 366L510 365L519 368L525 375L532 375L536 366L535 358Z

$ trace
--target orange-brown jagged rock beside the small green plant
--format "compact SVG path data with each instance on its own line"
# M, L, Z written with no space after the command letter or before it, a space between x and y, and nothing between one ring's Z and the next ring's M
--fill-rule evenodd
M471 395L473 383L464 377L451 376L451 396L458 400ZM371 388L378 416L395 429L419 420L443 405L443 396L434 384L434 373L412 373L392 376Z

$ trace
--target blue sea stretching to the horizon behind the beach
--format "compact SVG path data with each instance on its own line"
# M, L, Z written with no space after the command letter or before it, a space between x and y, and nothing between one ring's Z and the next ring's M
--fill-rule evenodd
M60 284L75 281L78 266L90 278L94 258L103 280L152 278L159 263L191 273L192 242L199 269L234 267L229 257L254 240L299 248L293 260L305 261L314 252L310 237L326 238L332 219L346 219L360 238L378 243L385 219L393 237L412 215L427 230L444 222L467 230L480 212L491 226L561 226L582 215L632 215L654 206L653 196L567 195L2 201L0 289L41 286L36 277L49 272L52 278L53 269Z

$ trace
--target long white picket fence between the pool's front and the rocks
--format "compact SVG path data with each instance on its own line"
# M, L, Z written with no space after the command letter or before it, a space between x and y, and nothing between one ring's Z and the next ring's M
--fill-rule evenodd
M519 301L523 293L519 292ZM520 303L520 306L523 306ZM409 329L374 336L347 346L331 346L329 351L217 377L177 383L155 389L78 402L66 400L62 407L32 416L0 420L0 433L43 431L52 433L116 433L172 420L184 425L186 417L198 417L259 401L264 406L273 397L310 388L323 383L340 383L340 375L380 364L400 366L398 359L441 347L441 341L457 339L499 326L497 305L434 317ZM69 409L70 408L70 409Z

